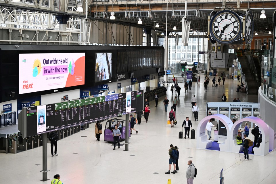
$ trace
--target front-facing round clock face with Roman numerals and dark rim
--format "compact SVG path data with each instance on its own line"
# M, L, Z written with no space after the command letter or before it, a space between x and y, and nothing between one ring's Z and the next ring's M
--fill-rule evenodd
M210 21L210 34L219 43L236 41L240 37L241 31L241 18L230 10L219 11Z

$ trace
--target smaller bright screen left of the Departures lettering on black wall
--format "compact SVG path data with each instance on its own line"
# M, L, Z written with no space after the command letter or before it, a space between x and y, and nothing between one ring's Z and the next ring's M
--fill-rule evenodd
M96 53L95 82L111 79L111 53Z

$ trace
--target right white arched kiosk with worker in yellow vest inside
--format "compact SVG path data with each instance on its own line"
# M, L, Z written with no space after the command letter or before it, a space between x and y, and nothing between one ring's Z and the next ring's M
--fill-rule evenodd
M254 154L261 155L261 156L267 155L269 153L269 130L268 130L267 124L263 120L254 116L242 118L235 122L235 124L231 129L231 133L230 133L231 136L227 138L231 142L230 152L239 153L243 150L243 147L241 145L237 145L236 137L237 137L240 125L245 121L252 122L258 125L258 127L262 131L262 143L260 143L260 147L254 147ZM250 134L251 134L251 129L249 130L249 135ZM254 142L254 139L252 141Z

